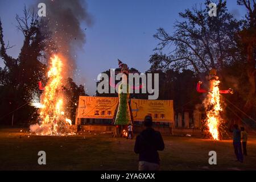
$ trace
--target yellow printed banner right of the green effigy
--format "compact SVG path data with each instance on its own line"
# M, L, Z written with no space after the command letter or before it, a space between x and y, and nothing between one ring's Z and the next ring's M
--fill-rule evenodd
M172 100L131 99L133 121L144 121L151 115L153 121L174 122L174 102Z

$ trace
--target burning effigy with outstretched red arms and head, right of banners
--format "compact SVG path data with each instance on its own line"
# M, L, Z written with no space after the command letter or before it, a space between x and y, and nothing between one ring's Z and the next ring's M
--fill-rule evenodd
M222 107L220 104L220 94L221 93L230 93L233 94L233 90L229 88L228 90L220 90L218 85L220 80L218 80L216 69L211 69L208 76L209 81L209 90L204 90L200 88L202 84L201 81L197 83L197 92L207 93L203 104L206 109L206 124L209 129L209 133L214 140L220 140L220 131L222 124L221 111Z

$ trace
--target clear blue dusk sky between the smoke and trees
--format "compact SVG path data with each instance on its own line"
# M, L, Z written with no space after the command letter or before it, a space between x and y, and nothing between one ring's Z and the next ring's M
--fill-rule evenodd
M178 13L204 0L88 0L88 11L93 17L93 25L86 27L86 43L77 52L77 73L73 77L77 84L85 85L86 92L96 91L97 75L110 68L117 68L117 59L140 72L150 68L147 63L158 43L152 35L159 27L172 32ZM228 0L228 9L240 19L245 9L235 0ZM23 6L28 7L32 0L0 0L0 18L4 40L10 45L11 56L17 57L23 43L23 35L17 30L15 14L22 14ZM0 66L3 67L0 59Z

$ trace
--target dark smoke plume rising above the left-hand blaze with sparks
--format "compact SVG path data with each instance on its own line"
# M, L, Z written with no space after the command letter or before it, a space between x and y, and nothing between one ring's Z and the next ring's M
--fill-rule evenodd
M81 0L40 0L46 4L46 18L51 39L68 65L68 76L76 68L76 50L85 43L85 24L90 26L92 18L85 1ZM39 3L39 1L38 1ZM84 26L84 27L83 27Z

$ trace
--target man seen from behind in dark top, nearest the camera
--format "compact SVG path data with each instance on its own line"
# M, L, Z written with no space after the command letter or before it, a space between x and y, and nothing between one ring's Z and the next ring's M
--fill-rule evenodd
M139 171L158 171L158 150L164 150L164 142L159 131L152 129L152 117L146 115L144 126L146 127L136 138L134 152L139 154Z

